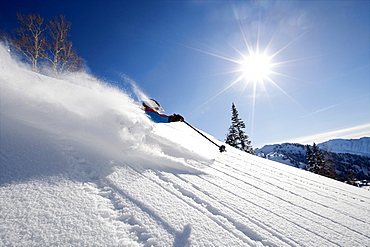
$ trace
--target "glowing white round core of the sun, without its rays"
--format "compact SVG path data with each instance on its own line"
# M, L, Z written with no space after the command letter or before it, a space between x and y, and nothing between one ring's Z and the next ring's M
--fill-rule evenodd
M249 56L243 56L242 61L239 62L241 72L241 79L247 82L262 83L269 79L272 72L271 57L265 53L252 53Z

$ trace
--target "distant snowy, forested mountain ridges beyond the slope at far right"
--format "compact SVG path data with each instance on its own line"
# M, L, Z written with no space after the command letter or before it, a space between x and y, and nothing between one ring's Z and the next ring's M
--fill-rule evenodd
M332 166L337 180L356 186L370 181L370 137L361 139L336 139L317 145L326 165ZM312 146L310 145L310 148ZM257 156L306 169L307 146L298 143L266 145L255 149Z

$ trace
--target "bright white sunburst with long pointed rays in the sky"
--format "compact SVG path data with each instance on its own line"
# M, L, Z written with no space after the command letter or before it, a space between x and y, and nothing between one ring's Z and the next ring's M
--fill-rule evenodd
M261 35L261 26L258 26L257 29L250 28L250 26L245 25L242 18L238 18L237 14L235 15L235 19L239 26L239 37L235 38L232 43L226 41L229 47L234 50L234 55L221 55L222 53L225 53L214 53L209 50L201 50L187 46L190 49L197 50L204 54L235 64L234 69L224 71L225 74L233 74L233 79L203 104L199 105L198 108L194 109L191 114L198 111L227 90L236 88L238 92L240 92L241 96L246 96L246 100L251 100L251 132L253 133L257 98L260 96L269 98L269 89L271 87L278 89L292 102L299 105L292 96L279 86L278 77L286 77L295 80L300 79L281 73L279 70L281 67L287 66L288 64L293 64L296 61L308 58L282 60L282 56L280 55L293 43L301 39L309 30L296 36L293 40L290 40L290 42L283 44L281 40L277 40L280 27L283 26L283 20L278 28L275 29L275 32L271 33L270 37L266 40L268 35L268 33L265 32L266 28L263 29L264 35ZM256 23L261 25L262 22L258 21ZM262 37L264 37L264 40L262 40ZM278 46L280 46L280 49L274 49L274 47L276 48Z

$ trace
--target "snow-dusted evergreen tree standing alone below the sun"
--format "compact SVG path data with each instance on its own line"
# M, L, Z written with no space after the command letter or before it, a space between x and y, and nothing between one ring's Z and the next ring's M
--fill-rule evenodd
M243 120L239 118L239 113L236 110L234 103L232 103L231 109L231 126L229 127L229 133L226 135L225 142L244 152L255 154L251 146L251 141L248 140L248 135L243 131L245 124Z

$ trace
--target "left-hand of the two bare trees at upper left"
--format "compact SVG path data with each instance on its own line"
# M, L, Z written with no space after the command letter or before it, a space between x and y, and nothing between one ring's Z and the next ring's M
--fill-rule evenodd
M14 47L32 63L33 71L38 71L37 61L44 57L46 38L44 35L44 18L40 15L22 15L17 13L20 27L15 30L12 40Z

